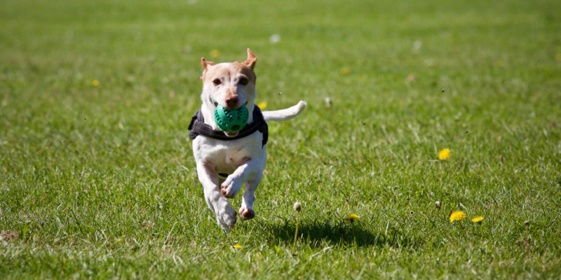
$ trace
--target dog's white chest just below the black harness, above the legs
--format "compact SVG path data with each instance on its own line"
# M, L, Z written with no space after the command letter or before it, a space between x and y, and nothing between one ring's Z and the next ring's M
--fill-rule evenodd
M234 141L220 141L198 136L193 141L193 153L197 162L215 167L215 171L230 174L251 159L264 158L262 134L255 132Z

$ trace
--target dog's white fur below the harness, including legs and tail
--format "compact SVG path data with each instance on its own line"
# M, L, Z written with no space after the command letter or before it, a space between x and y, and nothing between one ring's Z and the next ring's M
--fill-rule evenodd
M263 115L271 113L269 116L272 117L269 120L287 120L297 116L305 106L306 103L301 101L289 109L264 111ZM205 118L205 123L206 120ZM254 132L248 137L233 141L221 141L201 135L193 141L198 179L203 185L206 203L216 214L217 223L224 230L236 223L236 211L228 203L227 197L235 197L242 183L245 190L238 213L243 215L244 212L250 211L255 215L252 209L255 190L261 182L267 157L266 145L262 146L262 140L263 134ZM224 180L218 176L219 173L229 176ZM225 195L221 193L222 188Z

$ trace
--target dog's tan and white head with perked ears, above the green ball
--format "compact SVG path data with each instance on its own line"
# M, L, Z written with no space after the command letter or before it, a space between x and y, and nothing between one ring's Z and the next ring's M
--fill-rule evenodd
M255 91L255 72L253 68L257 57L248 49L248 58L244 62L227 62L215 64L201 57L204 70L203 104L214 110L219 104L227 109L237 109L248 106L252 111L253 101L257 95Z

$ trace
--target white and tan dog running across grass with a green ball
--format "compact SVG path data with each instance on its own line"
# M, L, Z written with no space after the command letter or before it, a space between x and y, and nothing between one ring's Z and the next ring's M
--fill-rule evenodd
M193 154L206 203L216 214L217 222L223 230L233 227L236 223L236 211L230 206L227 198L235 197L242 183L245 190L238 213L246 220L255 216L252 209L254 193L261 182L266 161L265 121L294 118L306 107L306 102L300 101L288 109L261 113L254 103L257 97L256 76L253 71L255 62L257 57L250 49L244 62L215 64L201 58L204 67L201 76L203 105L191 120L189 130L192 129ZM249 120L244 130L234 134L219 130L214 119L214 111L218 104L226 109L246 106ZM255 125L259 126L259 129L246 130ZM196 127L200 129L195 131Z

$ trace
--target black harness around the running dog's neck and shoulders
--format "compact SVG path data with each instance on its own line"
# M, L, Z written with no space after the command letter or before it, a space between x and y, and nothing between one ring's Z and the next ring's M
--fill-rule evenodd
M205 119L203 118L203 113L201 113L201 109L198 109L195 116L191 118L191 123L189 124L189 138L195 139L199 135L203 135L205 137L210 137L212 139L222 140L222 141L232 141L241 139L246 136L250 136L253 132L259 131L263 134L263 141L262 145L265 146L267 144L267 139L269 139L269 127L267 127L267 123L263 118L263 113L257 105L253 105L253 122L245 125L243 130L240 130L238 135L235 137L227 137L222 130L212 130L210 125L205 124Z

